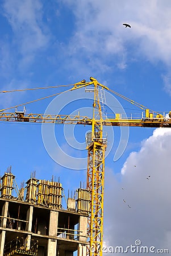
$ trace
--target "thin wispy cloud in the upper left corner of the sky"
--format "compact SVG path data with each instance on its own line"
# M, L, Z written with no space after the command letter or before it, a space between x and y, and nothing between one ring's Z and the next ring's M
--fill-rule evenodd
M23 56L22 64L30 63L35 52L47 46L48 34L42 22L42 8L39 0L4 2L4 15L14 33L12 43Z

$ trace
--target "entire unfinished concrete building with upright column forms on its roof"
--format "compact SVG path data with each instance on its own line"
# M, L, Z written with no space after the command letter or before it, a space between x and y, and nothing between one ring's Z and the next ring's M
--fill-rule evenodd
M86 255L89 191L78 188L64 209L60 182L31 177L15 197L15 176L9 171L1 180L0 256Z

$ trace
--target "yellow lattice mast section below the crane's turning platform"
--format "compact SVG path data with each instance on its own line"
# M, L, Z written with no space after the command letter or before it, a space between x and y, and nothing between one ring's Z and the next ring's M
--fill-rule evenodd
M88 147L87 189L90 191L90 218L87 234L90 237L89 255L102 255L103 193L106 144L93 141Z

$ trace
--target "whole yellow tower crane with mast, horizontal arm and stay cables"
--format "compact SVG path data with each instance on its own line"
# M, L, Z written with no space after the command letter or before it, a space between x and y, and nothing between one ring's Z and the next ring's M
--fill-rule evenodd
M53 114L26 114L25 110L22 112L16 110L15 113L7 113L5 110L0 110L1 121L16 121L16 122L36 122L36 123L68 123L77 125L91 125L91 134L87 140L87 189L90 191L90 217L88 220L87 234L90 239L90 246L88 253L90 256L102 256L102 243L103 243L103 199L104 199L104 177L105 177L105 151L107 140L103 136L103 126L139 126L139 127L171 127L171 112L168 116L153 112L145 106L122 96L114 90L107 88L105 85L100 84L96 79L90 77L90 81L82 80L73 84L73 88L69 90L76 90L86 86L93 86L94 101L93 101L93 118L87 116L77 115L53 115ZM48 88L57 86L51 86ZM141 119L122 118L122 115L115 114L115 118L103 118L101 101L99 98L99 88L106 89L116 94L117 96L127 100L131 104L138 106L140 109L145 110L145 116L142 115ZM44 89L44 88L34 88ZM24 89L31 90L31 89ZM69 91L67 90L67 91ZM14 90L20 91L20 90ZM6 93L3 91L1 93ZM66 91L65 91L66 92ZM62 92L63 93L63 92ZM52 94L44 98L56 96ZM40 98L42 100L44 98ZM35 100L37 101L37 100ZM31 102L35 102L31 101ZM26 102L30 103L30 102ZM21 106L24 104L20 104ZM14 108L14 107L11 107ZM8 109L11 109L8 108Z

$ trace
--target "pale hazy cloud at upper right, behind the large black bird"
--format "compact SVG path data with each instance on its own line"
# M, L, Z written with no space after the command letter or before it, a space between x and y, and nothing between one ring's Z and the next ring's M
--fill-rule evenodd
M64 1L68 2L68 1ZM69 1L70 2L70 1ZM72 1L71 1L72 2ZM148 59L171 59L170 1L74 1L77 18L74 38L88 51L124 52L127 43L140 43L137 51ZM132 28L124 28L123 22ZM90 47L91 46L91 47ZM130 47L131 48L131 47Z

